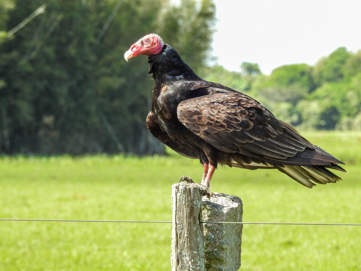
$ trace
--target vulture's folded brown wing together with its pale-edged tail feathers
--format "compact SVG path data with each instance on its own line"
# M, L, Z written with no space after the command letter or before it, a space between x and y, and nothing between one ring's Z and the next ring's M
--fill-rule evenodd
M344 171L336 165L342 163L340 160L241 93L214 90L210 95L184 100L177 116L212 146L241 155L233 155L231 165L236 167L277 168L309 188L314 185L312 181L325 184L340 180L325 167Z

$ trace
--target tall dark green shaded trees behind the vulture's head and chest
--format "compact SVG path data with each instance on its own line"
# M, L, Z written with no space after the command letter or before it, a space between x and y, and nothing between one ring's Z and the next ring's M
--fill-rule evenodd
M6 31L43 1L8 3L13 7L0 12ZM188 63L200 67L210 48L214 4L49 0L46 5L13 36L0 35L0 153L164 152L145 127L152 90L147 59L127 63L123 53L156 32L184 52L192 46ZM183 25L187 17L192 20L177 29L175 44L169 26ZM204 37L205 44L199 41Z

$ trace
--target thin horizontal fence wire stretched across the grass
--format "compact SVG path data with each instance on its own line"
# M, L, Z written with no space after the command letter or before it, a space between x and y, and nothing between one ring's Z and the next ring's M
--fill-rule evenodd
M0 218L0 221L56 221L56 222L114 222L114 223L172 223L172 221L152 220L81 220L81 219L22 219ZM324 225L324 226L361 226L357 223L292 223L292 222L228 222L202 221L204 224L261 224L261 225Z

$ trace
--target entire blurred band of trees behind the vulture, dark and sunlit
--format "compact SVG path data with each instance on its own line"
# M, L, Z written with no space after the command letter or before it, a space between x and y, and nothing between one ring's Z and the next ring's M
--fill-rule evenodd
M212 0L0 0L0 154L164 153L145 127L147 61L123 58L152 32L199 76L296 127L361 130L361 51L231 72L210 64L215 16Z

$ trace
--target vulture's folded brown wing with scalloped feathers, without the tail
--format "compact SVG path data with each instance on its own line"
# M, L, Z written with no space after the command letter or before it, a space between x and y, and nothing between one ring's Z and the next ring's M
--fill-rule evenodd
M220 89L179 103L179 121L225 152L286 159L313 145L249 96Z

